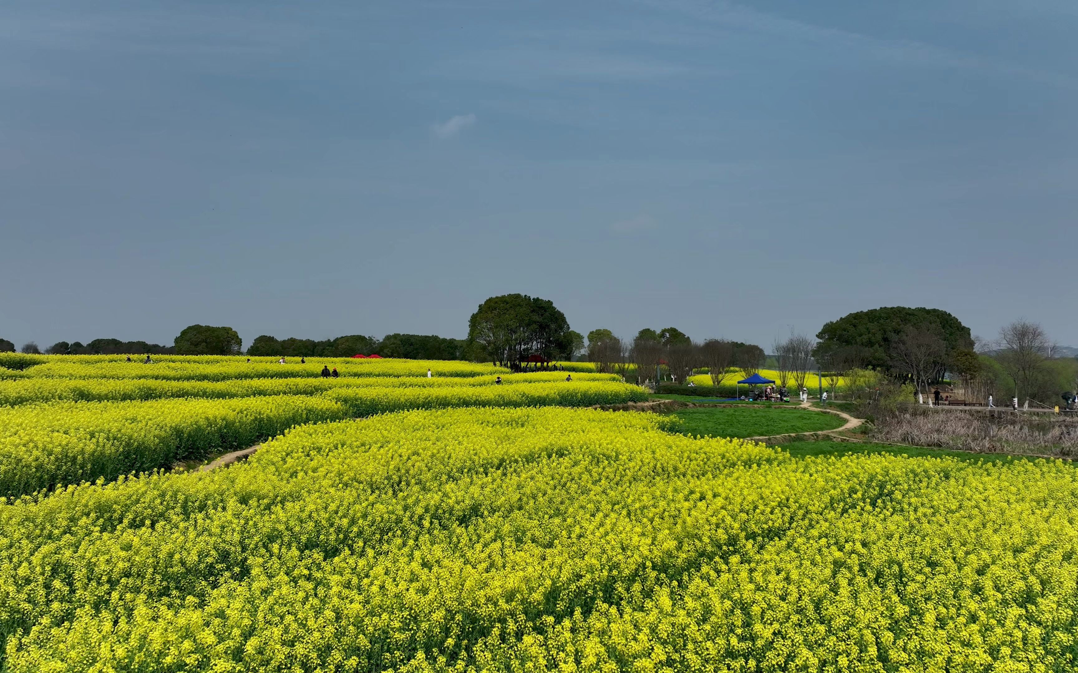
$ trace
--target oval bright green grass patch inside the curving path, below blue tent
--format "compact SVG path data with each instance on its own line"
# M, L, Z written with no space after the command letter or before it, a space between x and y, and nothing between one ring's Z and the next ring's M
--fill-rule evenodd
M761 437L841 427L845 421L832 413L765 407L697 407L675 411L676 431L711 437Z

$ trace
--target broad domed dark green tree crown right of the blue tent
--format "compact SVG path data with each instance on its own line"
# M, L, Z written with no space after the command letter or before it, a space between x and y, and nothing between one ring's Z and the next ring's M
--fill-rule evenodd
M857 348L865 366L896 374L895 351L910 331L939 337L948 356L973 348L969 327L957 318L938 308L890 306L848 313L825 324L813 351L818 361L827 362L841 349Z

